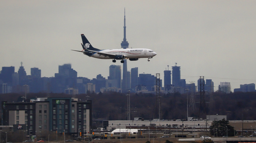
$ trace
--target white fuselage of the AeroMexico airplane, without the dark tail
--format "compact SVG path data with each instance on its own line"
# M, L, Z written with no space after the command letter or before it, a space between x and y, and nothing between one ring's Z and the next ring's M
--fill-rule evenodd
M124 55L126 59L129 58L148 58L156 56L157 53L150 49L109 49L101 50L100 53L106 53L111 55ZM113 59L110 56L104 56L101 54L94 53L90 57L100 58L100 59Z

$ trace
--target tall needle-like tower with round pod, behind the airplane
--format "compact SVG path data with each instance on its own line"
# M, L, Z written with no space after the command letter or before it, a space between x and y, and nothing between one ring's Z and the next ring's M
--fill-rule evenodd
M123 26L123 41L121 42L121 48L126 49L129 47L128 41L126 41L126 26L125 26L125 9L124 9L124 26ZM123 63L123 80L122 80L122 92L126 93L130 89L131 83L127 76L127 60L124 59Z

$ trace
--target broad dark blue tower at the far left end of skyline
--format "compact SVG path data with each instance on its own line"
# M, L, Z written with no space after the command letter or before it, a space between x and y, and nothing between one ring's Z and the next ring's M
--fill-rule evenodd
M12 74L14 73L14 67L2 67L1 73L1 80L7 86L12 86Z

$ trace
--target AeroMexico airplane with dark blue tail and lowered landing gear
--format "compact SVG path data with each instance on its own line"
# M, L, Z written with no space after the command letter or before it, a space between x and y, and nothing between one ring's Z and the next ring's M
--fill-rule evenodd
M109 49L109 50L100 50L94 48L92 44L87 40L84 34L81 34L83 44L81 43L83 50L77 51L82 52L84 55L89 57L99 58L99 59L113 59L112 62L116 60L121 60L121 63L124 63L124 59L129 59L130 61L137 61L139 58L153 58L157 53L150 49Z

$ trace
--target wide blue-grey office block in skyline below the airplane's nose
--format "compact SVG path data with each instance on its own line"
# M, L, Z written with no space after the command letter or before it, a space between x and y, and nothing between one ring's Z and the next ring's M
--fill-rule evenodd
M152 87L156 85L156 77L151 74L139 74L138 84L146 86L148 91L152 91Z

